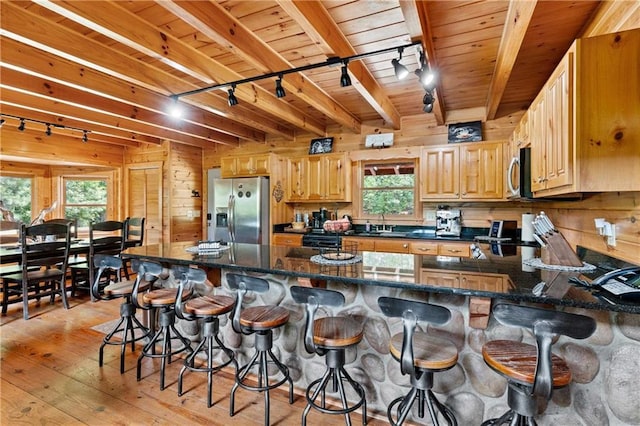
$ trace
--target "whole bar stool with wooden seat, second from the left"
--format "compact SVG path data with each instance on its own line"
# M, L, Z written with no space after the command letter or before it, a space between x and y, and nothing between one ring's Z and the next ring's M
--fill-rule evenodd
M161 265L155 264L152 269L148 269L146 274L150 274L155 276L156 278L160 278L161 275L165 272ZM191 349L191 342L189 339L184 337L175 326L176 323L176 311L175 311L175 303L178 295L178 288L155 288L151 289L142 295L142 304L140 304L138 299L138 293L140 289L141 280L136 280L136 285L133 287L132 300L134 305L137 308L152 310L155 309L158 311L158 325L159 328L151 337L151 339L147 342L146 345L142 348L142 352L138 357L138 364L136 369L136 378L138 381L141 380L141 368L142 368L142 359L144 357L147 358L160 358L160 390L164 390L164 372L166 368L166 364L171 364L171 358L173 355L178 353L187 351L189 353L193 352ZM191 290L185 289L182 293L183 300L188 299L191 296ZM173 348L171 345L172 340L179 340L182 345ZM162 342L162 352L156 353L156 343Z

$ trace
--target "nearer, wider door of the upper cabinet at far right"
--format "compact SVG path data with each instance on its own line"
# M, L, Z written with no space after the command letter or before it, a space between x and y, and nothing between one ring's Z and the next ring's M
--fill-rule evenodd
M558 188L573 182L572 70L573 52L569 52L547 83L545 189Z

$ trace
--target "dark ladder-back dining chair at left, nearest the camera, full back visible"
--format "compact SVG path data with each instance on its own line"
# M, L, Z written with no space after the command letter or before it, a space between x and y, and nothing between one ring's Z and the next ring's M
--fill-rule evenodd
M59 236L64 236L58 238ZM40 300L60 294L65 309L69 309L65 287L67 261L71 236L69 225L22 225L20 235L22 270L2 277L2 312L6 313L11 295L17 295L23 303L23 318L29 319L29 299Z

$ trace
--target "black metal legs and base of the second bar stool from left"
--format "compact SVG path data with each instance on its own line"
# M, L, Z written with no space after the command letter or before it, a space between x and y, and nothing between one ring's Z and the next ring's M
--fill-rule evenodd
M191 349L191 342L189 339L184 337L175 327L175 311L173 310L173 306L170 308L171 310L162 310L160 311L160 328L153 335L151 340L142 348L142 352L138 357L138 365L136 371L136 378L138 381L141 380L141 368L142 368L142 359L144 357L147 358L160 358L160 390L164 390L164 371L166 369L166 364L171 364L171 357L180 352L188 351L190 354L193 353L193 349ZM173 336L172 336L173 333ZM171 341L172 340L180 340L182 346L177 349L172 349ZM162 342L162 352L156 353L156 343Z

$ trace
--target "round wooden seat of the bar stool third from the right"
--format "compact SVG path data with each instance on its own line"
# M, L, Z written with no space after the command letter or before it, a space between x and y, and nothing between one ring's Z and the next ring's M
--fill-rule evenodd
M362 340L362 325L349 317L318 318L313 323L313 343L324 348L342 348Z

